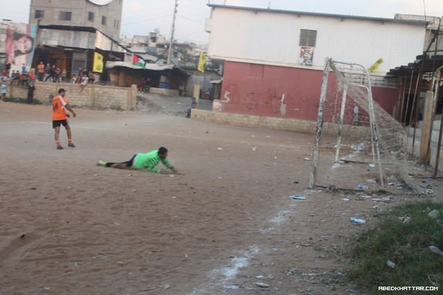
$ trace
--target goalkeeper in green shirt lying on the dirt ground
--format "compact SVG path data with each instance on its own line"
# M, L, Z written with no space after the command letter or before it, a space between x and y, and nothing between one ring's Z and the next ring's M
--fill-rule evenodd
M168 170L155 169L155 166L162 162L166 167L171 169L174 173L177 173L177 169L171 165L171 163L166 160L168 157L168 149L161 146L158 150L150 151L149 153L136 153L131 160L126 162L104 162L102 160L98 161L98 166L112 167L118 169L147 169L152 173L163 173L168 174Z

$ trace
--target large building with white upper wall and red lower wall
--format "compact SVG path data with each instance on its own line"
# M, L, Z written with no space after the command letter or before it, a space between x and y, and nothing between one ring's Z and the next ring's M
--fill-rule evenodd
M208 56L224 61L218 111L227 113L315 121L327 57L365 68L382 59L371 73L372 95L393 113L399 81L386 73L414 61L429 37L422 19L208 6Z

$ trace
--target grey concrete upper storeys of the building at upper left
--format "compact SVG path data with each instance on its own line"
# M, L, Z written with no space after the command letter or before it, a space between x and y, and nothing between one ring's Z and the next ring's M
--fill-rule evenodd
M31 0L29 24L96 28L118 40L123 0Z

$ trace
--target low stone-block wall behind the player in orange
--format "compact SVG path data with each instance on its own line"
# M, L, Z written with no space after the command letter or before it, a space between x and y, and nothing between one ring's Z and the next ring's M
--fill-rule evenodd
M34 99L50 104L60 88L64 88L69 104L87 108L116 109L130 111L136 109L137 87L116 87L89 84L83 91L80 84L36 82ZM28 89L25 86L8 85L7 97L26 99Z

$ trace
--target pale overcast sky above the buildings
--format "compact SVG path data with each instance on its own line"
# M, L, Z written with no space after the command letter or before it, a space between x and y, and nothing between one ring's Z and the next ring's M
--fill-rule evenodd
M82 1L82 0L67 0ZM6 0L0 0L7 2ZM174 39L196 44L208 43L204 23L210 17L208 2L229 6L272 8L336 15L393 18L396 13L443 16L443 0L178 0ZM171 36L175 0L123 0L121 34L148 35L156 28ZM0 19L28 23L30 0L14 0L1 5Z

